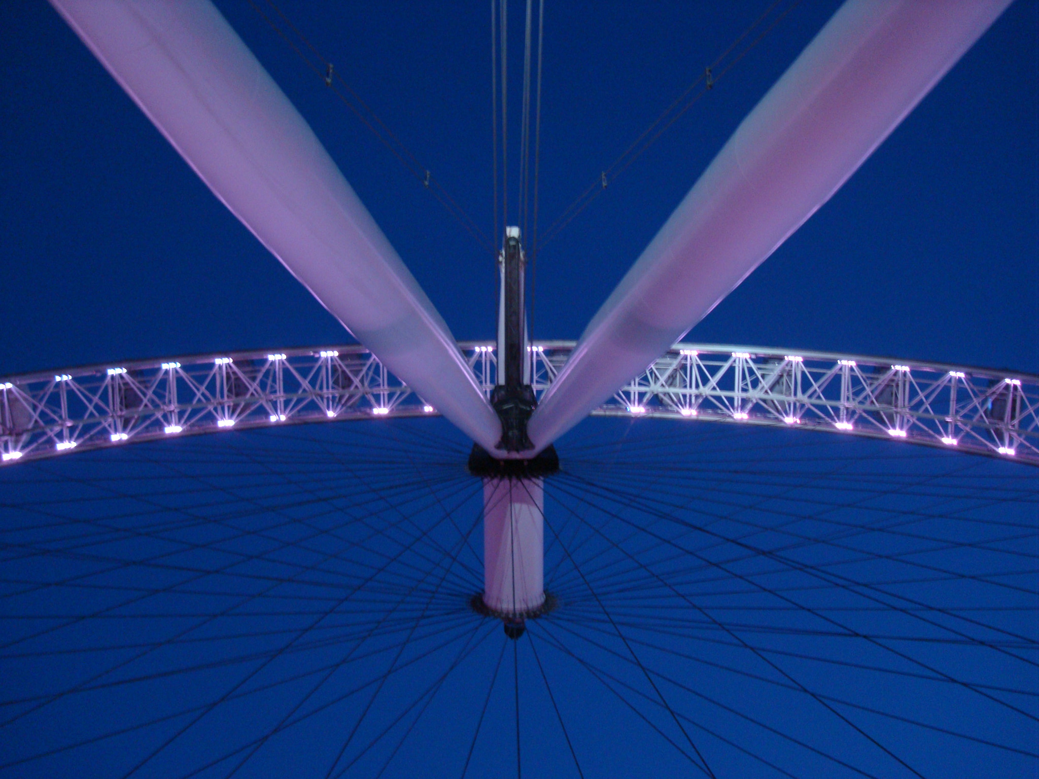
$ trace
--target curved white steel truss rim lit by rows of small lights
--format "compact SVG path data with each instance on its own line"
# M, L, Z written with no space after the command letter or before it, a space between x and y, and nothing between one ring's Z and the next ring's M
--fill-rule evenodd
M460 343L484 393L490 342ZM571 341L530 347L538 397ZM432 415L362 346L232 352L0 380L3 464L232 428ZM1039 465L1039 376L912 360L676 344L595 414L797 427Z

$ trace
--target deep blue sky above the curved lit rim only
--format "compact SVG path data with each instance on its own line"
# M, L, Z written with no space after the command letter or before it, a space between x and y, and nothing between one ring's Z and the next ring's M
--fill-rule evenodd
M488 338L494 270L477 243L247 3L219 5L455 335ZM765 5L550 2L542 225ZM549 245L538 337L580 334L835 5L796 7ZM489 233L487 7L284 6ZM1014 3L844 189L689 338L1039 372L1037 9L1034 0ZM521 22L512 20L514 31ZM4 3L0 43L0 374L345 340L46 3ZM517 75L521 38L511 45Z

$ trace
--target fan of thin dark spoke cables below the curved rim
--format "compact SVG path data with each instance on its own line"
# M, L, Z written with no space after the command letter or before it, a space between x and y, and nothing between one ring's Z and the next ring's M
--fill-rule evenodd
M430 744L454 776L518 754L575 776L1039 764L1028 466L781 430L583 431L545 483L560 607L512 642L512 674L500 625L468 608L480 484L441 421L0 472L0 776L87 754L105 775L248 776L304 743L332 777L414 775ZM518 742L517 703L543 725Z

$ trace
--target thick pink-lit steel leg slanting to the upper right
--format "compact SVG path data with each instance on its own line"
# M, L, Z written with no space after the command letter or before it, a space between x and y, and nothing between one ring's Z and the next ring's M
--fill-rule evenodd
M769 90L581 337L543 449L646 370L858 168L1010 0L849 0Z

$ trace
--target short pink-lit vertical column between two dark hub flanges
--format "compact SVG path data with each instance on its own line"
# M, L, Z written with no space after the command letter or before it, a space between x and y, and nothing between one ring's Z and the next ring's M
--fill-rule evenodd
M523 616L544 603L544 482L483 480L483 602Z

